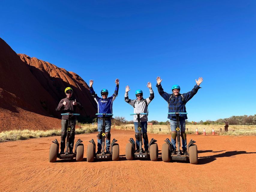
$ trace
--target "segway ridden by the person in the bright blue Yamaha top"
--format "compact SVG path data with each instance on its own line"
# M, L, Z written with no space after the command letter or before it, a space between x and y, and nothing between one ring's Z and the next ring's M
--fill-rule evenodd
M88 162L93 162L94 158L97 159L112 159L113 161L118 161L119 160L119 145L116 139L113 139L111 144L110 144L110 154L106 154L105 152L105 117L106 115L108 116L113 116L113 114L108 114L108 113L96 113L96 115L102 115L103 116L103 125L102 125L102 144L101 144L101 154L96 154L96 144L94 140L90 140L89 144L87 146L87 161ZM98 136L97 136L98 137Z

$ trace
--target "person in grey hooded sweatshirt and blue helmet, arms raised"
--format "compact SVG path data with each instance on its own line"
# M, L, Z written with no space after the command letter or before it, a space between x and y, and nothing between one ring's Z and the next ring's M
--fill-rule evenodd
M149 98L143 98L142 90L138 89L135 91L136 99L131 100L128 97L128 91L130 91L130 87L127 85L125 87L125 101L134 107L134 113L147 113L148 112L148 105L154 99L154 91L151 86L151 82L148 82L147 87L149 88L150 96ZM135 139L136 139L136 152L140 150L140 141L139 141L139 131L138 131L138 118L134 116L134 129L135 129ZM140 115L140 123L142 128L142 137L144 143L145 153L149 152L149 140L147 135L147 123L148 115Z

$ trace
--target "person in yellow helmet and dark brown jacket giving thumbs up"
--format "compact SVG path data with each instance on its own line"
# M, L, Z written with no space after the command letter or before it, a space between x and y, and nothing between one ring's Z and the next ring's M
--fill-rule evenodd
M56 107L56 111L63 110L63 113L76 113L76 109L82 110L83 106L77 101L73 95L73 89L71 87L65 88L66 98L60 100L59 105ZM75 140L75 127L76 116L71 117L71 131L69 139L69 154L73 154L74 140ZM61 143L60 143L60 155L64 154L65 139L67 137L68 129L68 115L62 116L61 119Z

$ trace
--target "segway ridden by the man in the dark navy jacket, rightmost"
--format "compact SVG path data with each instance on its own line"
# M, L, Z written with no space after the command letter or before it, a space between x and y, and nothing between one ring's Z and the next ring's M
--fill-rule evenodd
M189 159L191 164L197 164L198 163L198 158L197 158L197 146L194 145L196 143L192 139L188 143L188 155L182 155L180 152L180 128L179 128L179 114L188 114L188 113L168 113L168 114L176 114L176 119L177 119L177 128L176 128L176 133L177 133L177 154L172 155L171 152L172 150L172 143L171 141L167 138L165 143L162 146L162 159L164 162L170 162L171 160L177 160L177 161L187 161Z

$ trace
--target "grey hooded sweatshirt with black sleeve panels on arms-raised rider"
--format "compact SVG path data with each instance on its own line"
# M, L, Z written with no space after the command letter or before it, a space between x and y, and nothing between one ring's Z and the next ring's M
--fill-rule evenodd
M148 105L154 99L154 91L152 88L149 89L150 96L149 98L142 98L141 100L134 99L131 100L128 97L128 92L125 92L125 101L134 107L134 113L147 113L148 112ZM134 122L138 122L137 115L133 117ZM148 121L148 115L140 115L140 122Z

